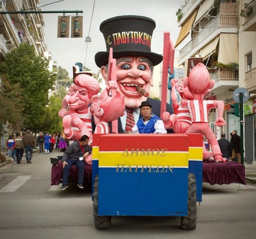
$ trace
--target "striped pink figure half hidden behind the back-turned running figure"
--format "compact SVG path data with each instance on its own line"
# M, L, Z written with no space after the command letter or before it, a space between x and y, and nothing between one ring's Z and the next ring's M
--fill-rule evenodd
M181 84L178 84L178 80L174 78L170 81L170 83L172 85L172 91L170 93L170 96L172 98L174 114L170 115L168 112L163 113L164 127L166 129L173 128L173 131L176 134L185 134L187 129L192 124L191 115L188 108L179 105L176 90L179 92L179 95L184 100L193 100L194 96L188 91L187 86L184 86L183 82ZM211 153L206 150L203 143L203 159L209 159L210 157Z

